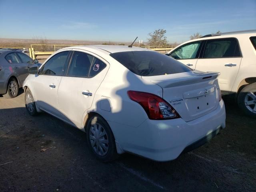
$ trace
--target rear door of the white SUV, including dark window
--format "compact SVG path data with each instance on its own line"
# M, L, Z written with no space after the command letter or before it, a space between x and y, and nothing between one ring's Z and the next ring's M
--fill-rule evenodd
M196 63L196 70L220 72L218 83L224 94L230 94L238 74L242 55L236 38L207 40Z

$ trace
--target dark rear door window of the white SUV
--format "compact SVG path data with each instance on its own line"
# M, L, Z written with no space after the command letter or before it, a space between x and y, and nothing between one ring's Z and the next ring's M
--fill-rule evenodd
M207 40L203 58L223 58L241 56L235 38Z

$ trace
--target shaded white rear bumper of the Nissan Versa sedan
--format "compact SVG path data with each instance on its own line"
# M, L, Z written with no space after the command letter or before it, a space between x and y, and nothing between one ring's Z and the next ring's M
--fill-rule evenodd
M204 144L225 128L223 100L216 110L195 120L146 120L138 127L108 122L122 150L156 161L176 159L182 152Z

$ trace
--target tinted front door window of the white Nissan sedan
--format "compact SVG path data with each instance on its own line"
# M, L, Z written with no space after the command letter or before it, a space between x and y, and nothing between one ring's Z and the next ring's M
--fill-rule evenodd
M68 51L60 52L50 58L43 66L42 74L63 75Z

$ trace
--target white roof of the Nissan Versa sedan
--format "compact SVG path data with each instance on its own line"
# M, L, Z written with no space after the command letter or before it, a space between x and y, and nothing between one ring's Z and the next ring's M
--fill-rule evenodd
M64 49L71 48L71 49L83 49L87 50L87 48L94 49L94 50L104 50L108 53L116 53L116 52L125 52L125 51L150 51L146 48L141 47L128 47L124 45L86 45L86 46L72 46L66 47Z

